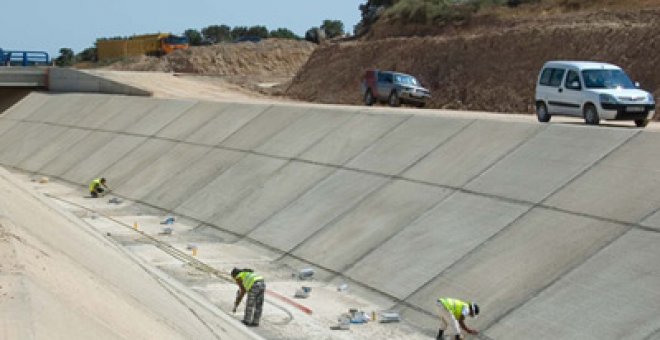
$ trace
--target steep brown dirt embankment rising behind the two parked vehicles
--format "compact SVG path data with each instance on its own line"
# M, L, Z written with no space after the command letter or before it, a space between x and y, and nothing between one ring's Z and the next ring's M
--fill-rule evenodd
M433 93L432 108L533 112L540 67L553 59L598 60L622 66L660 96L660 9L546 13L490 18L451 34L386 38L318 48L287 96L359 104L368 68L417 76Z

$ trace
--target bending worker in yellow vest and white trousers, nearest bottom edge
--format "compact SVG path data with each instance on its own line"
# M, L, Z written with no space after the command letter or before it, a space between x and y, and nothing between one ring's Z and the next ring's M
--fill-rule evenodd
M436 302L438 314L440 315L440 330L437 339L444 339L445 330L448 335L455 335L456 339L462 339L461 329L468 334L479 334L474 329L465 325L465 318L470 316L476 318L479 315L479 306L474 302L464 302L458 299L439 298ZM460 328L459 328L460 326Z

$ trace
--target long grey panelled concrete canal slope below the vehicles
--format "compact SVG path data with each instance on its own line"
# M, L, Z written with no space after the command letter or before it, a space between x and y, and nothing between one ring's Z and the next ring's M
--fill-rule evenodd
M104 175L429 335L440 296L479 302L484 338L658 334L660 134L410 112L33 94L0 163Z

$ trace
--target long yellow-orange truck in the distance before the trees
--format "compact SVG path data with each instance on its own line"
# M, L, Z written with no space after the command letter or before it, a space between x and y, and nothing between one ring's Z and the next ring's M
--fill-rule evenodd
M162 56L175 50L186 49L188 46L188 38L171 33L144 34L128 39L96 41L99 61L141 55Z

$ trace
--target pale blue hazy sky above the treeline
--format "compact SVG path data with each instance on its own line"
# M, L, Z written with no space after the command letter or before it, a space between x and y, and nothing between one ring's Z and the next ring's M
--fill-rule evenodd
M0 48L75 53L96 38L172 32L210 25L264 25L300 36L324 19L341 20L352 32L366 0L11 0L0 5Z

